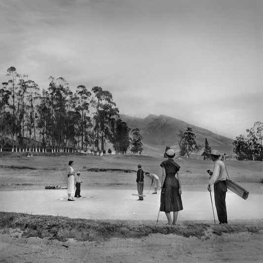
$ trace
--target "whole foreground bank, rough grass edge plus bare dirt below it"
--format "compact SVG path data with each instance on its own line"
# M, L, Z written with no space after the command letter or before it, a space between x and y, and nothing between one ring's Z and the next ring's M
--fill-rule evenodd
M0 262L262 262L263 220L93 221L1 212ZM3 227L5 225L5 227Z

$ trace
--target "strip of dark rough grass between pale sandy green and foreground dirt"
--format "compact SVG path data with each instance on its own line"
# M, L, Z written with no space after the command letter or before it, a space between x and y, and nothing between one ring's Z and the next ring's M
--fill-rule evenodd
M102 241L118 238L142 238L150 234L176 234L184 237L207 239L211 233L262 233L263 221L258 224L248 222L229 225L210 225L195 221L185 221L179 225L156 225L155 222L134 222L121 220L87 220L68 217L30 215L0 212L0 228L19 228L25 237L39 237L66 241ZM210 234L209 234L210 233Z

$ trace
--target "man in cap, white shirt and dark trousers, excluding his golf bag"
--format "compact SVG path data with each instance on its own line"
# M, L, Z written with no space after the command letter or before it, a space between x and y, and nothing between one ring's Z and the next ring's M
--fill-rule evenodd
M219 159L220 153L217 150L211 151L211 159L214 162L213 172L207 170L210 175L207 190L211 192L211 186L214 185L214 195L215 204L217 209L217 215L219 220L219 225L227 224L227 214L225 205L225 195L226 195L226 169L223 161ZM211 199L212 200L212 199Z

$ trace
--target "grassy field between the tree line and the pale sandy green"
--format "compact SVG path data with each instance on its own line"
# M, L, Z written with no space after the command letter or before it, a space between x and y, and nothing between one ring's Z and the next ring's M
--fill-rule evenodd
M163 158L130 154L93 156L70 153L34 155L28 158L22 153L2 154L0 155L0 190L67 186L67 168L70 160L74 160L75 171L81 172L84 188L130 189L135 185L138 163L142 164L145 172L149 171L160 177L159 164ZM182 184L185 190L200 190L206 187L209 177L206 170L213 168L212 161L180 157L176 162L181 166ZM254 183L263 182L263 162L225 161L225 165L230 179L235 182L242 182L252 188L257 186L253 186ZM107 171L90 171L92 168ZM150 180L146 180L145 184L148 187ZM259 192L257 187L255 191Z

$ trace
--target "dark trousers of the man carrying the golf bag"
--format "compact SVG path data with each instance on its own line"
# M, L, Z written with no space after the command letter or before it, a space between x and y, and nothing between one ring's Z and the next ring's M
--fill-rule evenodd
M217 208L218 220L222 224L227 224L227 214L225 205L225 194L227 188L225 181L220 181L214 184L215 204Z

